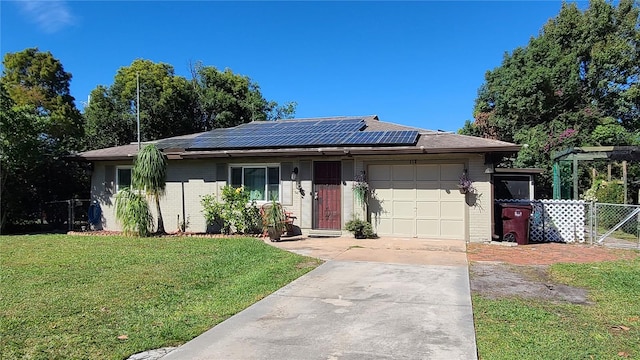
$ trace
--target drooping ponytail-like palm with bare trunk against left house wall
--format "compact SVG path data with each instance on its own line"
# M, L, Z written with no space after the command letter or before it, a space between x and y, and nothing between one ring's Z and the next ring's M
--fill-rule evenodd
M147 196L153 197L158 212L157 233L165 234L160 197L167 184L167 157L154 144L146 145L138 152L131 170L131 183L134 189L144 190Z

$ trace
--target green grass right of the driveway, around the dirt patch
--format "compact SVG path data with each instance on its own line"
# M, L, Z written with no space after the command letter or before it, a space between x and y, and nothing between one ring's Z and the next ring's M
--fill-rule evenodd
M640 259L551 266L592 305L473 296L481 359L640 359Z

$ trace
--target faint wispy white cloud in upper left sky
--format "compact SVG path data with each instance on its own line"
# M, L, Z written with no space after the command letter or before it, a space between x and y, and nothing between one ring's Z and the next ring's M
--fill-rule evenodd
M66 1L24 0L18 4L29 20L45 32L54 33L74 23Z

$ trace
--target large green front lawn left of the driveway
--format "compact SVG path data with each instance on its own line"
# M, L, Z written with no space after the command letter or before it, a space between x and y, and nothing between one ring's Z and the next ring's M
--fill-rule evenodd
M0 357L177 346L317 265L258 239L3 236Z

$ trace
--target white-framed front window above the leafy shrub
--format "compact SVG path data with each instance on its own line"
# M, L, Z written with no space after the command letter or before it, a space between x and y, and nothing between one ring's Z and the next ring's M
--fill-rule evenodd
M231 186L244 186L255 201L280 201L280 167L278 165L232 165Z

